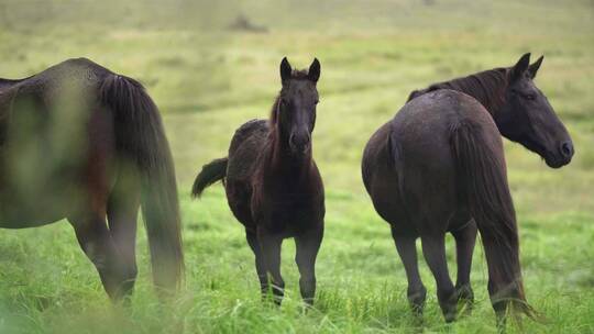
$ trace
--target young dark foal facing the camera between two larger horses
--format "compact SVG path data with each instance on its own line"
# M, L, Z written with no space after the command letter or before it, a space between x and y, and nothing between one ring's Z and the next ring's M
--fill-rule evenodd
M318 59L306 73L293 70L284 58L283 87L270 120L252 120L238 129L229 156L205 165L193 188L193 194L200 196L206 187L224 180L229 207L245 226L255 255L263 297L272 288L278 304L285 287L280 245L287 237L295 237L304 301L312 304L316 293L315 266L324 215L323 185L311 157L319 77Z

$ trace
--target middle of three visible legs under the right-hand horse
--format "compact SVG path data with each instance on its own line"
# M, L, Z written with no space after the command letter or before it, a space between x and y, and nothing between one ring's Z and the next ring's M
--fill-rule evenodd
M424 235L421 236L421 243L425 259L436 278L438 301L443 318L446 322L452 322L455 320L458 296L448 271L444 235Z

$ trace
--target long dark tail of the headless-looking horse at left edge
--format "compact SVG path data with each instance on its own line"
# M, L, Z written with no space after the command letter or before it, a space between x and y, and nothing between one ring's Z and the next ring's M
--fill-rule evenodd
M158 109L140 82L114 74L102 81L100 99L113 112L119 155L140 174L154 282L166 291L177 290L184 276L179 201Z

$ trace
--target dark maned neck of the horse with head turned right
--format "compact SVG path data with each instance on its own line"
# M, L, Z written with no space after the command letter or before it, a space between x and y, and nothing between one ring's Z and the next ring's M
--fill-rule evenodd
M449 81L432 84L424 90L413 91L408 97L407 102L433 90L452 89L473 97L481 102L491 114L494 114L504 102L505 89L508 85L508 68L501 67Z

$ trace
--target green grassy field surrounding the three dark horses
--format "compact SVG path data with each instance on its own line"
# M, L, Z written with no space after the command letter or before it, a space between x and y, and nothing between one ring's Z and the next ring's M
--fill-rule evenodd
M99 4L101 3L101 4ZM239 14L268 33L231 32ZM146 238L130 308L112 307L68 223L0 231L0 333L495 333L486 263L476 248L472 316L446 325L425 261L426 322L408 312L389 229L360 177L371 134L431 82L546 59L537 78L573 136L570 166L505 143L529 302L547 322L509 333L594 332L594 2L486 0L18 1L0 2L0 77L32 75L86 56L139 78L160 105L176 160L187 290L155 298ZM233 131L264 118L283 56L322 65L315 157L327 189L316 309L302 312L295 246L284 245L280 309L260 302L241 225L222 187L191 201L196 171L226 154ZM448 237L450 271L455 272Z

